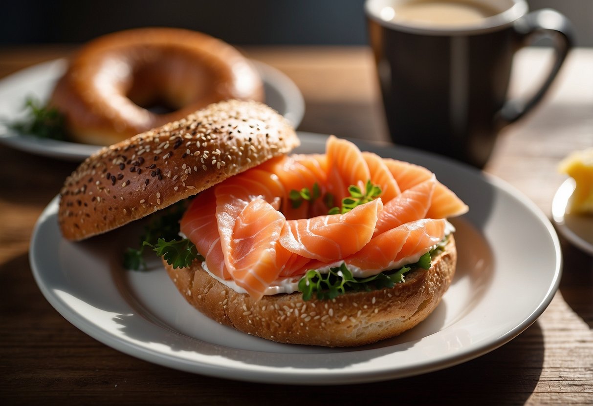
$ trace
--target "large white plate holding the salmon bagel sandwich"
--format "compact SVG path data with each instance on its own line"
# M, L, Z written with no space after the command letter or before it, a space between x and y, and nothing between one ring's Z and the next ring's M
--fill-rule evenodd
M299 136L299 152L323 151L324 136ZM506 183L449 160L359 144L422 163L470 206L454 221L459 263L451 288L423 323L394 339L331 349L275 343L221 326L187 304L157 258L149 272L122 269L122 247L138 239L141 224L71 243L60 237L57 198L31 241L36 281L63 317L114 349L244 381L349 384L417 375L487 353L530 326L560 277L557 236L535 205Z

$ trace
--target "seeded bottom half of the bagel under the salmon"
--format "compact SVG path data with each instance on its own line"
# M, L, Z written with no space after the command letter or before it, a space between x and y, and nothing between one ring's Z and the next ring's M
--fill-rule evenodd
M178 269L163 263L187 301L218 323L282 343L351 347L397 336L428 317L451 284L457 250L451 235L429 270L410 270L393 288L309 301L300 292L256 301L216 281L197 261Z

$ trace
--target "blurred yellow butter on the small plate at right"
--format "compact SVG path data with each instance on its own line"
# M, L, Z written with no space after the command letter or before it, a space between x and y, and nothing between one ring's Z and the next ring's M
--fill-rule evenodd
M559 170L576 182L569 211L593 214L593 148L573 152L560 162Z

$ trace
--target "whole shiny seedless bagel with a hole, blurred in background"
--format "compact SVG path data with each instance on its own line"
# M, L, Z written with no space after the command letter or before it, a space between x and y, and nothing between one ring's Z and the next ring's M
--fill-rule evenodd
M140 107L155 99L176 111ZM139 28L82 47L51 104L76 141L110 145L226 99L263 101L262 80L239 51L195 31Z

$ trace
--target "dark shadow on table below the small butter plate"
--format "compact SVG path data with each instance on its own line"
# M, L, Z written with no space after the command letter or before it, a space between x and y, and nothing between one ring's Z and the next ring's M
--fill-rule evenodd
M560 236L564 260L560 292L572 310L593 329L593 256Z

